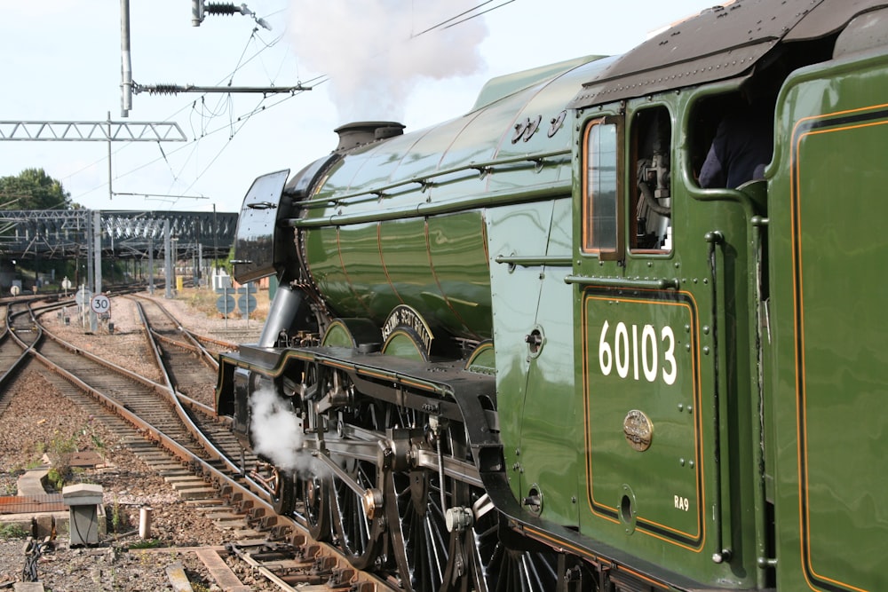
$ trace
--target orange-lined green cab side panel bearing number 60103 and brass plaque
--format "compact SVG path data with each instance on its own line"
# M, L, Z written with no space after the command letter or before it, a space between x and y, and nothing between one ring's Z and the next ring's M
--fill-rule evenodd
M583 296L587 502L686 549L703 540L699 325L686 294Z

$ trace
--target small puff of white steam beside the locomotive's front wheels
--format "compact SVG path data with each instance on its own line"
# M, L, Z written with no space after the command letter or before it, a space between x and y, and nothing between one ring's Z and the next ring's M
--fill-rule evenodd
M302 420L271 388L250 395L253 452L283 470L309 470L311 455L302 450Z

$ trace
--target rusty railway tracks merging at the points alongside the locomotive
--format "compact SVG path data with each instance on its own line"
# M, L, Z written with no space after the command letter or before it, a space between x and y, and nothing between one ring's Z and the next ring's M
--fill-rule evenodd
M13 359L23 359L20 364L35 359L52 370L44 375L59 391L102 418L195 509L231 529L228 553L250 564L253 572L283 589L305 584L313 590L388 589L385 582L355 571L336 549L312 541L298 515L275 515L264 476L245 470L256 466L256 459L242 454L206 397L216 380L210 348L226 343L190 335L162 304L137 300L146 347L162 380L115 365L47 331L40 318L61 304L35 306L34 312L11 309L6 323L12 328L10 343L7 332L0 334L0 364L12 367Z

